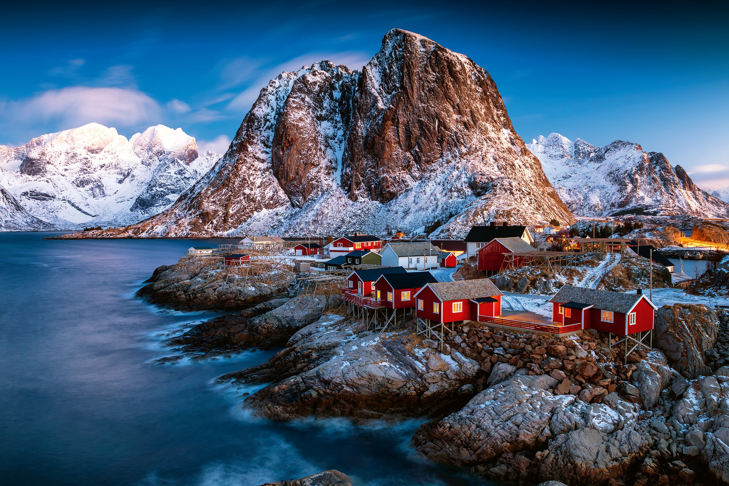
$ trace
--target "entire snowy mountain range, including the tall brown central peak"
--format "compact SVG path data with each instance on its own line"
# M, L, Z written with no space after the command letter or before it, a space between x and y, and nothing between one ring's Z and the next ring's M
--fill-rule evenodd
M0 169L6 229L124 226L88 237L459 238L491 221L729 215L637 144L558 133L524 144L488 72L400 29L361 70L322 60L272 79L222 157L198 154L181 129L127 140L90 124L0 146Z

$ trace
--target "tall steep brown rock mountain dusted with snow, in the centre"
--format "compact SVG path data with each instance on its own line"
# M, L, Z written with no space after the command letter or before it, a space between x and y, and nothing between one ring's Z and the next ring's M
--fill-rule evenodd
M101 236L319 235L572 222L488 73L399 29L351 71L327 60L264 87L228 152L167 211Z

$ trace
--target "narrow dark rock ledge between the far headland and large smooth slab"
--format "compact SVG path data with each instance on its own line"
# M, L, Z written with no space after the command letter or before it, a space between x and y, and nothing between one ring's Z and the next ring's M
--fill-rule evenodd
M278 307L259 317L246 318L254 311L246 310L238 315L221 315L192 326L184 334L171 337L163 345L175 347L184 353L228 353L245 348L270 348L286 342L297 330L308 326L321 317L325 310L341 305L340 297L303 295L293 299L276 299L269 305L254 309Z

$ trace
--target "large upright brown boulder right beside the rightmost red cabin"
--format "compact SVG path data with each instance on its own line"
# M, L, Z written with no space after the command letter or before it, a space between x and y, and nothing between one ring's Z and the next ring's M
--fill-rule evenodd
M655 313L653 344L681 375L711 375L706 351L714 347L719 319L705 305L664 305Z

